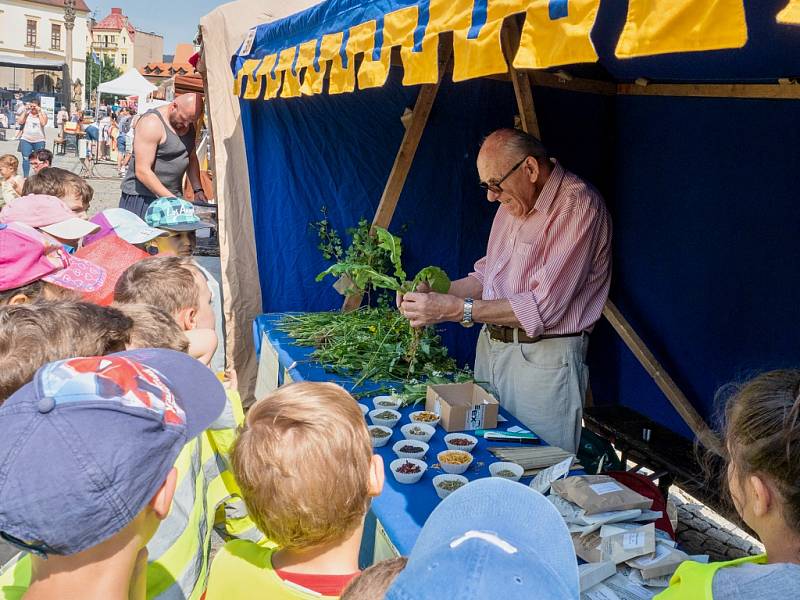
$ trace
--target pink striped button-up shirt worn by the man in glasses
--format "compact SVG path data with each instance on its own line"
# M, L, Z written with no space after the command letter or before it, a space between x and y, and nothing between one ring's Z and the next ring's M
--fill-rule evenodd
M611 219L600 194L558 162L534 209L500 206L486 256L470 273L483 300L507 298L530 336L579 333L600 318L611 284Z

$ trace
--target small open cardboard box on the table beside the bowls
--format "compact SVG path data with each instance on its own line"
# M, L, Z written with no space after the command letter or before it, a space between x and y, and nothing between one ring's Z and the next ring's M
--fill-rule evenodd
M429 385L425 410L441 417L445 431L472 431L497 427L500 403L475 383Z

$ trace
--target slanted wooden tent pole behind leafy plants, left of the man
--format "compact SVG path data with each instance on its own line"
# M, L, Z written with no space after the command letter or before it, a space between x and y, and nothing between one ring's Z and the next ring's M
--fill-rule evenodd
M373 235L375 234L376 227L386 229L392 222L394 211L397 208L397 201L400 199L400 194L406 183L408 172L411 170L411 164L414 162L414 155L417 153L422 134L425 132L425 125L428 123L428 117L431 114L433 103L436 100L436 94L439 92L442 77L445 71L447 71L447 65L450 62L453 46L445 39L442 39L441 42L445 47L439 56L439 79L436 83L429 83L420 87L417 101L414 103L414 110L411 113L410 122L403 136L403 141L400 143L397 156L394 159L394 165L386 181L386 187L383 189L383 195L378 203L375 216L372 219L372 229L370 233ZM362 297L363 294L348 295L344 299L342 310L348 312L357 309L361 306Z

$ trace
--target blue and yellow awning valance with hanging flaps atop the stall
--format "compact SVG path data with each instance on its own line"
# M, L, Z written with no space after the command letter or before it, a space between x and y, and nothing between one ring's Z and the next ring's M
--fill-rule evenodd
M513 66L544 69L595 62L601 0L328 0L260 25L233 57L234 93L270 100L380 87L398 48L404 85L434 83L439 40L453 36L453 80L506 73L503 21L522 15ZM793 0L794 2L794 0ZM629 0L618 58L739 48L743 0ZM358 68L356 57L363 56Z

